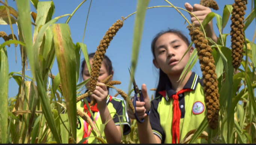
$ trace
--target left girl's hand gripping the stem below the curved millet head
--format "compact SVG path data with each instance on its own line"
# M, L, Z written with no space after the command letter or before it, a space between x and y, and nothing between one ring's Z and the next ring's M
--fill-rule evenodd
M107 106L107 96L109 95L109 91L107 91L107 86L104 86L104 83L97 83L102 86L96 86L93 94L91 95L97 101L98 110L104 110Z

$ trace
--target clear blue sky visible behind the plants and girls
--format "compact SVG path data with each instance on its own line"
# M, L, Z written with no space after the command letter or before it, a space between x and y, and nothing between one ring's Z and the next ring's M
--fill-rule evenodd
M46 0L40 0L46 1ZM82 2L82 0L53 0L55 4L55 13L53 18L64 14L71 14L74 9ZM184 4L186 0L170 0L174 6L185 8ZM189 1L191 5L199 3L200 0ZM16 3L13 0L8 1L9 5L16 9ZM222 16L223 8L225 4L232 4L234 0L217 0L219 10L212 10L213 12ZM246 16L251 11L251 0L248 1ZM87 0L74 14L68 23L70 26L71 37L73 42L82 42L83 31L85 28L86 16L89 9L90 0ZM150 0L150 6L169 6L164 0ZM84 44L87 45L88 53L95 52L100 40L103 38L109 27L121 19L122 16L126 17L129 14L136 11L137 0L93 0L89 13L88 23L85 32ZM31 11L36 12L33 5L30 7ZM182 12L186 18L190 20L190 15L187 12ZM67 17L60 19L57 23L65 23ZM32 21L32 20L31 20ZM129 83L129 72L128 67L131 64L131 48L133 38L135 15L131 16L124 22L124 26L118 31L107 49L106 55L112 60L114 68L114 80L121 81L122 84L116 86L128 92ZM189 31L186 29L187 23L184 24L185 20L179 15L179 13L168 7L149 9L146 12L144 31L140 45L140 53L138 57L137 69L135 72L135 80L139 87L143 83L147 85L148 93L151 96L154 94L153 91L149 91L151 88L156 88L158 81L158 70L155 69L152 63L152 53L150 45L153 37L161 30L167 28L174 28L183 31L189 37ZM214 31L217 35L219 32L216 26L216 19L213 19ZM229 20L223 33L230 32ZM17 26L13 26L14 34L18 36ZM246 37L252 41L253 34L255 31L255 20L246 30ZM9 25L0 25L0 31L5 31L8 35L11 34ZM3 43L3 39L0 39L0 44ZM230 46L230 36L227 38L226 46ZM11 45L7 47L8 61L9 61L9 72L20 72L21 66L21 53L19 47L16 48L17 64L15 62L15 47ZM83 56L81 58L81 61ZM28 67L29 69L29 67ZM196 72L199 76L202 76L200 65L197 62L192 71ZM52 67L52 73L56 75L58 73L57 61L55 60L54 66ZM26 71L26 75L31 76L29 71ZM18 93L18 85L14 79L9 81L9 97L16 96ZM115 90L110 91L110 95L115 95ZM120 96L119 96L120 97Z

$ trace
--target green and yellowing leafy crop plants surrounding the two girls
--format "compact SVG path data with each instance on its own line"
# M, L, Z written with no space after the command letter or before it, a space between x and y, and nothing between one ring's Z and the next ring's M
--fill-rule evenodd
M0 31L0 36L3 38L0 39L0 142L12 144L82 143L83 141L77 142L76 123L77 115L80 112L76 109L76 103L79 97L79 99L82 99L80 89L90 79L78 83L81 54L84 55L86 62L89 62L89 59L86 44L72 41L68 22L86 0L77 6L72 14L64 14L56 18L52 18L55 10L53 1L15 1L16 10L8 6L7 0L0 0L0 25L11 24L11 29L13 26L18 27L18 35L14 35L14 32L9 35L2 30ZM157 7L158 9L169 7L179 11L180 14L187 13L185 9L173 6L171 1L168 0L165 0L167 2L166 6L147 7L149 1L138 0L137 12L131 12L131 15L135 15L131 78L134 76L137 66L146 11ZM219 11L223 11L222 16L214 12L209 13L200 27L200 31L206 36L205 26L212 19L216 19L219 29L219 33L216 33L219 37L217 43L213 42L211 38L205 37L212 43L210 46L212 48L211 54L216 66L215 72L218 82L216 87L219 90L220 109L217 121L219 124L216 129L212 130L208 126L208 116L205 116L198 129L188 132L182 143L193 143L198 138L207 139L208 143L256 143L256 100L254 94L256 88L256 44L254 43L256 31L253 38L247 38L244 34L248 26L255 21L256 0L252 0L252 6L254 7L252 11L244 10L249 15L243 19L236 16L241 8L236 9L237 11L233 10L234 6L232 4L235 1L237 0L226 1L225 8L223 10L219 9ZM242 1L247 2L247 0ZM37 12L30 11L31 3ZM247 4L247 7L250 5ZM120 20L116 20L116 23L120 24L119 29L125 27L125 21L131 15L127 17L120 16ZM177 17L185 18L182 15ZM58 23L58 20L62 18L67 18L67 21ZM235 24L238 20L239 25ZM226 25L228 21L232 21L232 26ZM122 23L124 23L124 26L121 26ZM114 25L117 24L113 22ZM243 25L243 27L240 28L240 25ZM34 28L34 32L32 32L32 28ZM231 29L231 33L222 34L224 28ZM186 30L189 31L189 29ZM115 31L117 32L118 29L115 29ZM110 32L107 30L106 32L109 36ZM111 35L116 34L116 32L111 33ZM240 36L238 33L244 34L239 37L240 40L235 39L235 37ZM234 43L240 42L239 50L234 45L232 45L234 48L226 45L228 35L234 38ZM110 43L112 39L115 39L113 37L111 39L104 37L103 40ZM118 37L118 35L115 37ZM99 40L99 42L102 42L100 45L104 45L104 53L106 53L107 44L105 47L103 40ZM10 45L15 45L21 50L21 73L9 73L9 67L12 66L9 66L7 60L8 55L10 55L7 55L7 46ZM98 51L98 49L95 48L95 51ZM103 53L102 50L101 53ZM98 55L100 56L100 54ZM198 59L200 60L200 56L197 54L198 51L195 49L180 79L186 76ZM58 74L52 74L51 72L55 59L57 59ZM31 77L25 75L28 64L30 65ZM238 66L240 64L242 67ZM238 69L239 73L234 75L234 68ZM96 83L92 82L97 78L99 72L94 72L94 65L92 65L92 68L88 66L88 69L92 74L90 85L93 88ZM11 89L8 88L10 78L15 79L19 85L19 93L16 98L8 98L8 90ZM31 81L28 81L28 79ZM181 81L183 80L181 79ZM126 93L115 88L113 84L109 84L124 97L128 106L133 107L129 104L133 91L131 89L132 79L130 79L128 88L130 91ZM243 89L239 89L240 87L243 87ZM79 97L77 98L77 96ZM92 126L95 143L107 143L106 139L101 136L104 128L96 126ZM136 120L131 122L131 133L122 136L122 143L139 143Z

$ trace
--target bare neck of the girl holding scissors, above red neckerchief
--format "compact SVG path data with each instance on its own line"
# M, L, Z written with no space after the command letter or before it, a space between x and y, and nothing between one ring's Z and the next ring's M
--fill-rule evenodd
M171 81L171 88L178 92L180 90L182 90L184 88L184 86L186 85L186 83L188 82L190 76L191 76L192 72L188 72L188 74L186 75L186 77L184 78L183 82L182 79L180 79L180 75L181 74L177 74L177 75L168 75L168 78ZM180 81L179 81L180 79ZM179 82L178 82L179 81ZM182 82L182 83L181 83Z

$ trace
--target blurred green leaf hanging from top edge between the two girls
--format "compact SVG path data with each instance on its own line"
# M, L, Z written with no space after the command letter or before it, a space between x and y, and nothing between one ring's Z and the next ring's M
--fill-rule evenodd
M131 90L132 78L137 66L138 53L140 51L140 41L143 33L144 20L146 15L147 5L150 0L138 0L137 1L137 14L135 17L135 25L133 31L133 40L132 40L132 57L131 57L131 77L129 81L128 90ZM128 94L129 96L130 94ZM128 102L128 100L125 100Z

